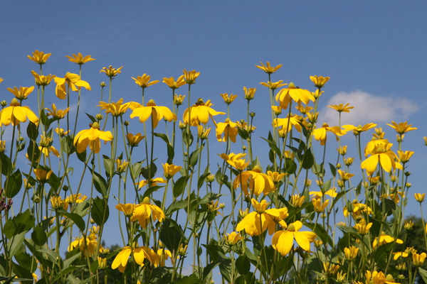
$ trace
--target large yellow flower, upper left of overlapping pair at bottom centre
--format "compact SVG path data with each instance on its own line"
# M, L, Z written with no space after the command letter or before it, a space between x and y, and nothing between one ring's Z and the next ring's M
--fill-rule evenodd
M254 212L247 214L241 222L236 226L236 231L246 231L250 236L259 236L266 229L268 234L273 234L275 231L276 221L278 219L285 219L288 217L288 209L285 207L280 209L267 209L268 202L262 200L257 202L252 198L251 200ZM282 224L285 224L282 222Z

